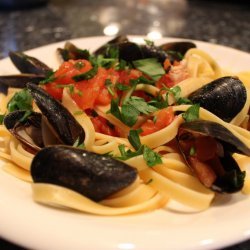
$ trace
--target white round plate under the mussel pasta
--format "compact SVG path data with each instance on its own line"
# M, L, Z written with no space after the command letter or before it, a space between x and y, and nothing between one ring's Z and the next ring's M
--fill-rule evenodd
M138 37L132 37L139 39ZM72 40L94 49L109 38ZM140 38L141 39L141 38ZM162 39L157 43L176 41ZM183 40L183 39L181 39ZM235 49L195 41L220 65L237 72L250 70L250 55ZM56 48L64 42L27 52L49 66L58 65ZM0 74L16 72L9 59ZM250 238L250 197L235 194L201 213L157 211L101 217L54 209L32 201L30 185L0 168L0 235L32 249L211 249Z

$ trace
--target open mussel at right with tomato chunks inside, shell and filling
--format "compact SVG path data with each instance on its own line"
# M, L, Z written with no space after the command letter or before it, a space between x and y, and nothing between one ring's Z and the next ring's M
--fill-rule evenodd
M242 172L232 154L250 148L221 124L196 120L181 124L177 141L187 164L206 187L232 193L242 189Z

